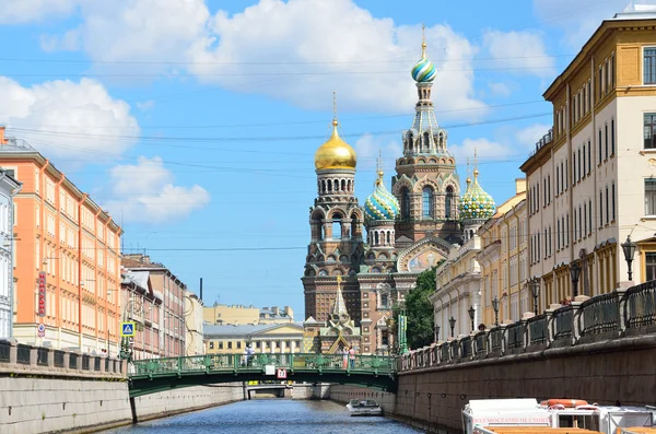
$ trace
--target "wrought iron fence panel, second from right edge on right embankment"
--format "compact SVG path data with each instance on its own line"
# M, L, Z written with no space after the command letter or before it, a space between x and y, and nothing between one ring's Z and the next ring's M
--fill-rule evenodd
M597 295L581 304L581 336L599 335L620 329L620 295L613 291Z

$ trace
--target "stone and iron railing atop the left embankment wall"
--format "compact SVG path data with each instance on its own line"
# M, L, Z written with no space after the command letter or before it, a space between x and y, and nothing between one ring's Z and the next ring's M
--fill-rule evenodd
M127 372L118 359L0 341L0 373L125 378Z

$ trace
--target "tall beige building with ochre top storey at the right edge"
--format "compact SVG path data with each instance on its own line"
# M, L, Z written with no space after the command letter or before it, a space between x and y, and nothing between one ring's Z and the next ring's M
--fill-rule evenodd
M633 281L654 278L656 8L604 21L549 86L553 133L522 165L528 177L530 277L540 310L628 282L621 243L639 244Z

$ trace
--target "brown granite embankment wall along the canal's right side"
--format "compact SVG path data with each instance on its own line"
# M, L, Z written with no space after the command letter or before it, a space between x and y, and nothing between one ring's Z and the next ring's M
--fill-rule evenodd
M430 432L460 433L470 399L653 404L655 359L656 336L648 335L415 368L399 375L395 417Z

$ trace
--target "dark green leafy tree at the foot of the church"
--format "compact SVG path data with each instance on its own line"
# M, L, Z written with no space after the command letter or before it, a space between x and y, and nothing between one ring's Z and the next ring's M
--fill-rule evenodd
M393 308L395 324L398 324L398 316L401 310L406 310L406 316L408 317L408 330L406 335L408 337L408 347L411 349L433 343L433 305L429 301L429 295L435 291L435 270L437 267L419 274L417 277L417 285L406 296L406 303L403 305L396 304Z

